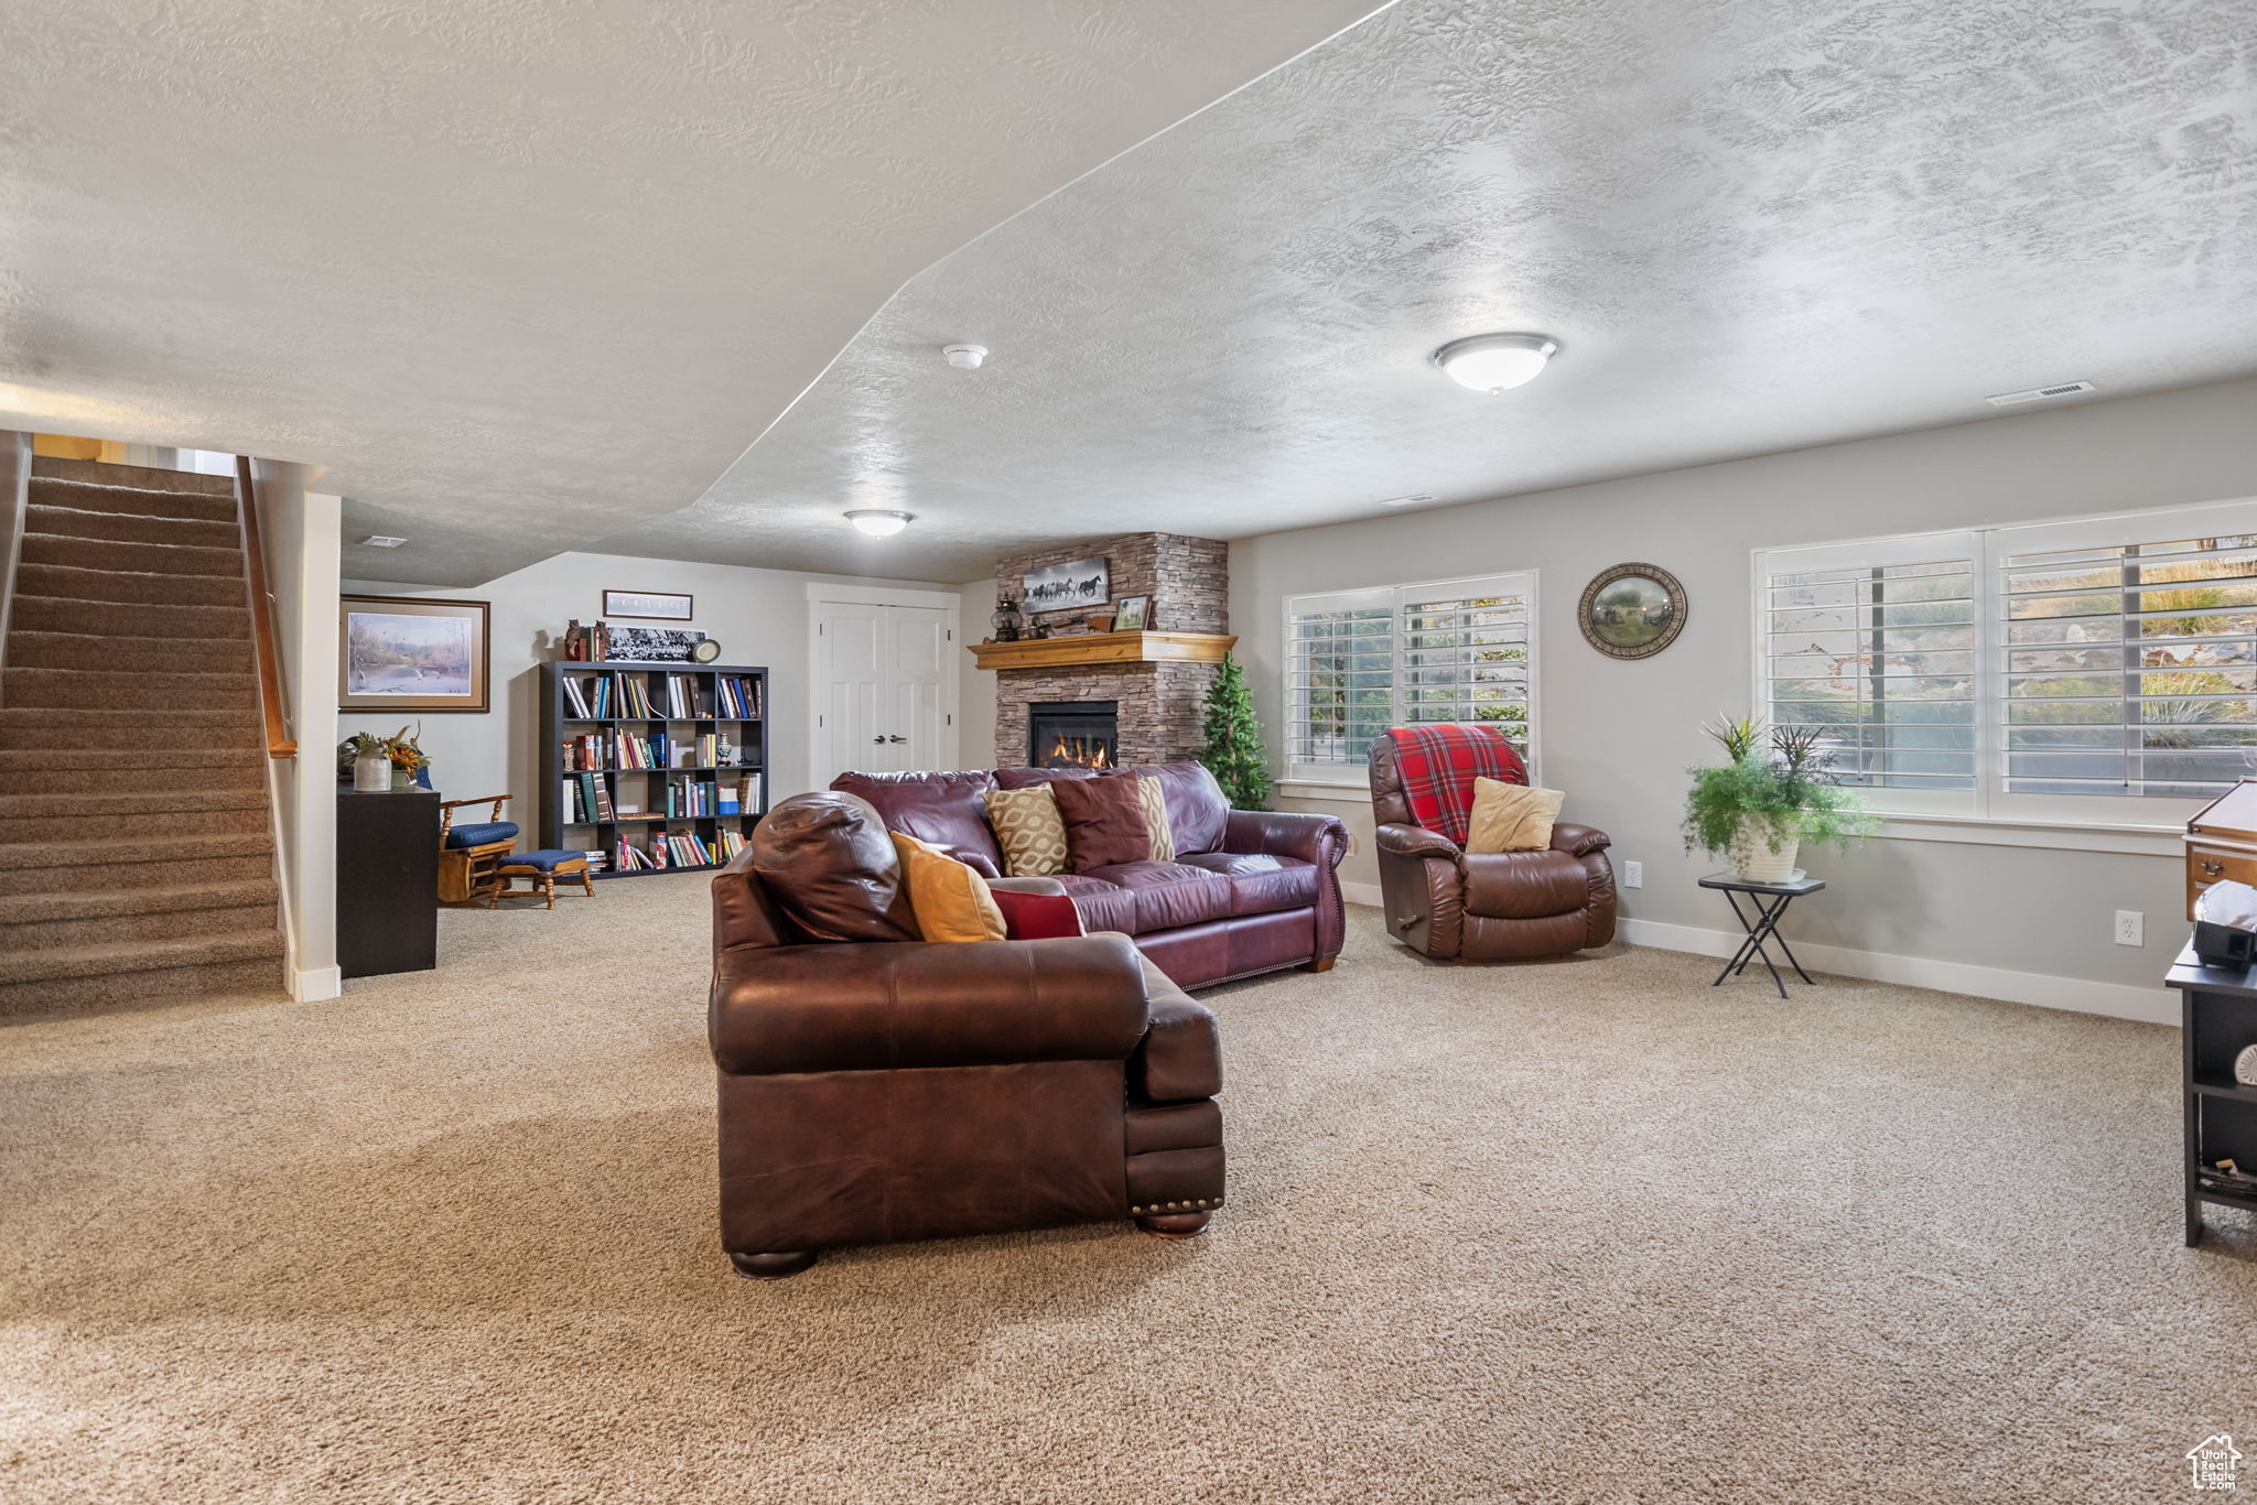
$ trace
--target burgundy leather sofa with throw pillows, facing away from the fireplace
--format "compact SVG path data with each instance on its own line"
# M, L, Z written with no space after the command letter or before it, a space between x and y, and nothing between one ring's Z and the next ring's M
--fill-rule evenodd
M1198 763L1124 772L1160 781L1176 842L1174 862L1119 862L1009 882L1068 894L1086 932L1131 936L1180 988L1289 966L1311 972L1332 966L1345 923L1338 866L1347 855L1347 828L1341 821L1329 815L1232 810L1214 774ZM1092 776L1088 769L1052 767L840 774L831 787L867 799L889 830L943 848L982 878L1002 878L986 792Z

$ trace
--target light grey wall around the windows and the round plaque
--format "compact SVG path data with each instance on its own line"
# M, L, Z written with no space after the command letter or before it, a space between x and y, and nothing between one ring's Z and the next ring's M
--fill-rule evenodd
M1275 751L1286 593L1539 571L1544 781L1566 790L1566 819L1614 837L1616 866L1645 864L1645 887L1623 891L1623 914L1643 921L1632 939L1695 948L1731 916L1693 887L1718 864L1677 835L1684 769L1711 760L1702 720L1749 711L1749 551L2252 494L2257 381L2232 381L1246 539L1230 551L1230 623ZM1618 663L1575 627L1584 582L1623 560L1675 571L1690 596L1684 634L1654 659ZM1368 796L1296 785L1280 803L1350 817L1343 875L1377 882ZM2162 855L1964 839L1812 851L1803 864L1830 887L1794 907L1788 932L1842 948L1828 952L1842 970L2176 1018L2155 984L2185 939L2180 862L2167 839L2149 846ZM2117 909L2146 914L2144 948L2113 943Z

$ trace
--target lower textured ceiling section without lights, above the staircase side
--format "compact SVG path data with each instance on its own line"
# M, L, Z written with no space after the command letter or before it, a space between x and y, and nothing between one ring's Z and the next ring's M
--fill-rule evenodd
M697 499L905 278L1377 0L9 0L0 426L330 467L469 584Z

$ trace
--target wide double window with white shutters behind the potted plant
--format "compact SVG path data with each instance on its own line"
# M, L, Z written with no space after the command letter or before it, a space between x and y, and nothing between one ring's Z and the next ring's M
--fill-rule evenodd
M1882 810L2176 821L2257 776L2257 503L1776 548L1756 589L1767 715Z

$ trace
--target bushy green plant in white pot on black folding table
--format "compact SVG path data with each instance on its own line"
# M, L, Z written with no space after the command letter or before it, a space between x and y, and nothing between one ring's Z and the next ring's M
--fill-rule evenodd
M1873 817L1842 787L1819 749L1824 727L1772 727L1754 718L1702 727L1729 758L1697 767L1686 792L1686 851L1724 853L1740 882L1790 882L1803 842L1871 835Z

